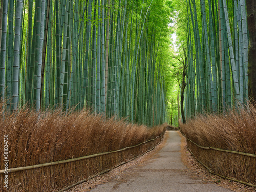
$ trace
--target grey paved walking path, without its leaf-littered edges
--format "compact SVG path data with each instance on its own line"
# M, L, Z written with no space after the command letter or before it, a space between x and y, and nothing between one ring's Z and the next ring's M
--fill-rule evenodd
M178 131L167 131L166 134L166 143L149 160L131 166L115 179L98 185L91 191L231 191L189 177L187 168L181 161L181 137Z

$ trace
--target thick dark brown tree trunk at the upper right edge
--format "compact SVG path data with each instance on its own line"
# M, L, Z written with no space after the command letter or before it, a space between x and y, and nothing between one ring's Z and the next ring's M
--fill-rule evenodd
M246 0L247 24L249 30L248 47L248 94L251 101L256 101L256 2Z

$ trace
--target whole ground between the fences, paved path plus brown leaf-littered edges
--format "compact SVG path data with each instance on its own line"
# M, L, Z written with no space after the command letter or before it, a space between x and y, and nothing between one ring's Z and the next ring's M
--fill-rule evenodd
M255 191L212 175L186 147L179 131L167 131L155 150L70 190L75 191Z

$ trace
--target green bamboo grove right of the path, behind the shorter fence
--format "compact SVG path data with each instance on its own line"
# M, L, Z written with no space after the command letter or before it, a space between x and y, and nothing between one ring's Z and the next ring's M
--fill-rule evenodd
M185 113L224 113L247 105L248 35L244 0L187 0L183 19Z

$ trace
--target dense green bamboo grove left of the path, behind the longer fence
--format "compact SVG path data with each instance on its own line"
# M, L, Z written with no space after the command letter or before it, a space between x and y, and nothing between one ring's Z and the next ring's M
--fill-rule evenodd
M25 104L37 111L86 107L138 124L163 123L166 2L2 0L6 112Z

